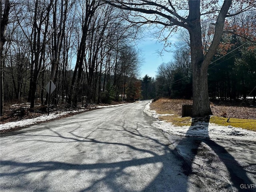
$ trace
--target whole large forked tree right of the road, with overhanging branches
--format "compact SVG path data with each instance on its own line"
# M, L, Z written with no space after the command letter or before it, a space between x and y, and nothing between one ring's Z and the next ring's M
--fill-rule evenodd
M256 3L234 1L232 4L232 0L224 0L222 6L219 6L216 0L202 2L200 0L181 2L172 0L157 2L149 0L106 0L105 2L123 10L129 10L130 16L135 16L139 19L135 22L137 24L160 24L169 29L170 32L175 31L177 26L188 30L193 74L192 113L193 116L212 114L208 97L207 70L220 43L225 18L255 7ZM228 13L231 5L233 9L238 10L234 14ZM202 49L202 17L213 17L216 21L214 23L214 37L206 55L204 55Z

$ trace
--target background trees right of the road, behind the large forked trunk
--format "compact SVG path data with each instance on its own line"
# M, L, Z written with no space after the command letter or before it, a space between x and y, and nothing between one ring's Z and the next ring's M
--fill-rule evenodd
M225 28L233 28L249 37L256 37L256 12L239 14L226 22ZM235 29L236 28L236 29ZM204 49L212 38L210 22L203 23ZM156 78L144 76L150 98L192 98L192 68L189 35L180 32L172 61L158 66ZM142 83L143 85L143 83ZM144 88L145 89L145 88ZM238 100L253 97L256 102L256 43L236 34L224 34L219 48L208 69L208 93L212 100Z

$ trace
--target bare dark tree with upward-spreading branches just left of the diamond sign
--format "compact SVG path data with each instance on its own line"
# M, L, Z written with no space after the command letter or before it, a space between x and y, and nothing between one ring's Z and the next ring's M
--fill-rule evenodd
M28 102L34 107L38 78L46 55L50 10L53 1L22 1L15 10L17 23L30 44L30 86Z

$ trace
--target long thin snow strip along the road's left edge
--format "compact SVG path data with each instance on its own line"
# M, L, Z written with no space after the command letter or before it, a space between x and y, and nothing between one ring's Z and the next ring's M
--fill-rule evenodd
M92 108L107 108L107 107L115 107L115 106L121 106L125 104L117 104L117 105L108 105L108 106L96 106ZM78 113L78 112L85 112L88 109L80 109L80 110L73 110L73 111L66 111L66 112L56 112L56 113L50 113L49 115L42 115L36 118L32 119L24 119L21 121L16 121L16 122L8 122L5 124L0 124L0 130L7 130L7 129L12 129L16 127L24 127L32 124L36 124L38 122L44 122L52 119L56 119L58 117L64 116L69 113Z

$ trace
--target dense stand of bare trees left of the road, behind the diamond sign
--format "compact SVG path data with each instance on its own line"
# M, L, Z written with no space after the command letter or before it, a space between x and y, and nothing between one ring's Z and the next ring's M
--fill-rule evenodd
M10 1L1 54L4 102L47 104L49 80L56 85L52 103L140 97L138 29L124 14L102 1Z

